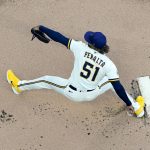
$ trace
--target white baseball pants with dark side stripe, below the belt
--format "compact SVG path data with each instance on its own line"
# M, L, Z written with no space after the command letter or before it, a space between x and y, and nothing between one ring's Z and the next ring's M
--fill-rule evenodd
M69 79L64 79L56 76L43 76L34 80L22 80L19 82L18 87L22 90L36 90L36 89L52 89L70 100L76 102L92 101L97 96L103 94L108 90L113 90L113 86L108 82L108 78L104 77L96 89L92 91L78 91L70 88L71 83Z

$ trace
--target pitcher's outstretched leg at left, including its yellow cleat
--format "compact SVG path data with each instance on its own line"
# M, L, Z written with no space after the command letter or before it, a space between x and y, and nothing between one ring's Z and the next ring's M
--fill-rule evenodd
M53 89L63 94L68 84L67 79L56 76L43 76L34 80L20 80L12 70L7 71L7 81L15 94L33 89Z

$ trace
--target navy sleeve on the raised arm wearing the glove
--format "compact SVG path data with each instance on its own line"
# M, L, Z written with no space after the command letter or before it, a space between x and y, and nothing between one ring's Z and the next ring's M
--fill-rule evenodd
M54 40L55 42L59 42L68 47L69 38L65 37L61 33L44 27L42 25L39 26L39 30L45 33L50 39Z

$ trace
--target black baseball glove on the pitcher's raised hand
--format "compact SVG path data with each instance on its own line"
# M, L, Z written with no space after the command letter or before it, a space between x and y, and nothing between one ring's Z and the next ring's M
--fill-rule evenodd
M35 37L38 38L41 42L49 43L50 39L46 37L46 35L40 31L37 27L33 27L31 29L31 33L33 34L33 37L31 40L33 40Z

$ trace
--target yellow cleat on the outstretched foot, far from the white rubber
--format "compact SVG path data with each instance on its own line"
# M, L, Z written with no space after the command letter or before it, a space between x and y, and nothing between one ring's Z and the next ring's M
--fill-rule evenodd
M12 70L7 71L7 81L11 85L12 90L15 94L21 93L21 90L18 87L18 83L19 83L20 79L18 77L16 77L16 75L13 73Z

